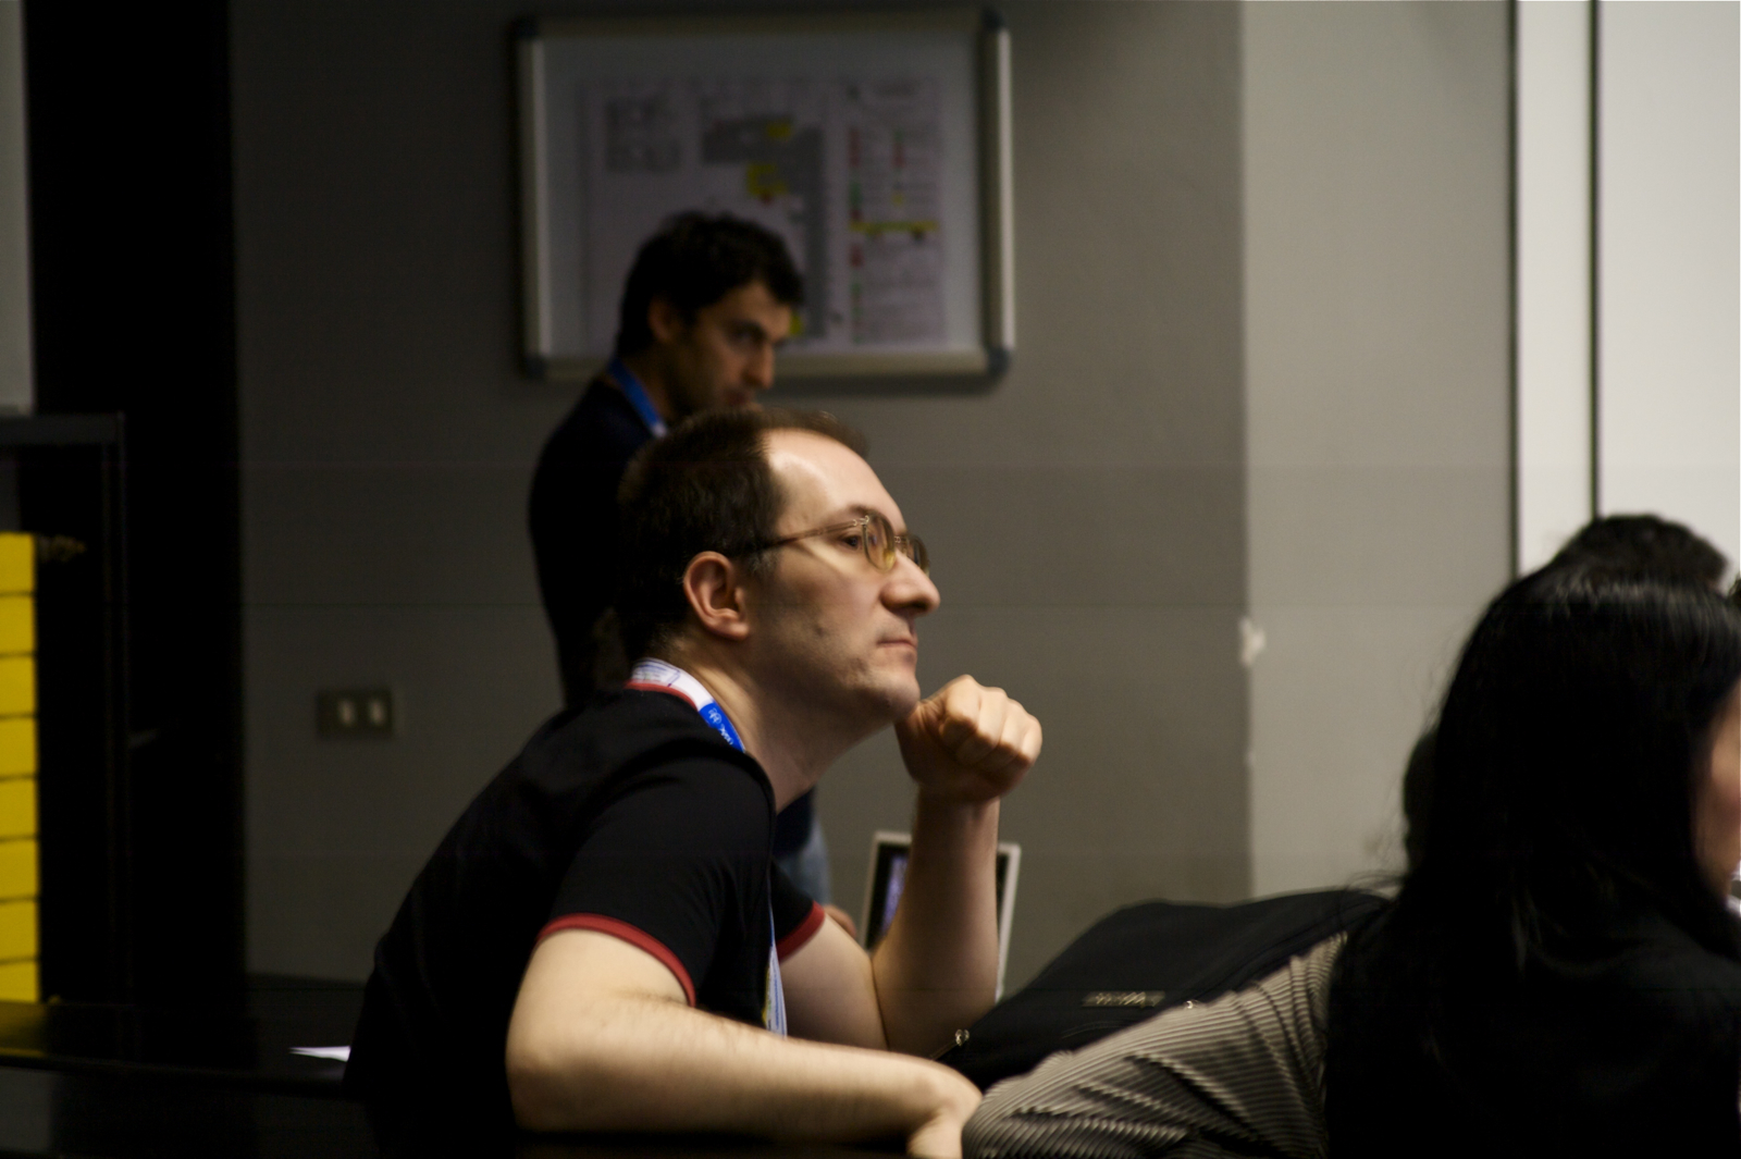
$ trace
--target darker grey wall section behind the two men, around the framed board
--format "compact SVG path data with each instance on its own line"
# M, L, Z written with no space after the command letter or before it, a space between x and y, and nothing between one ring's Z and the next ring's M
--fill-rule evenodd
M515 371L522 10L235 5L256 969L362 976L416 851L557 701L519 505L573 392ZM1247 889L1240 12L1005 12L1015 369L820 402L937 548L926 682L1046 720L1006 813L1018 985L1112 905ZM402 736L315 741L313 691L369 682ZM907 807L886 736L823 781L850 908Z

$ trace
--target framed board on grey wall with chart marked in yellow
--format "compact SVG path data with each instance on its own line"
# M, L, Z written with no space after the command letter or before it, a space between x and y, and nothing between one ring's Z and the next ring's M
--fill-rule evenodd
M529 19L519 28L533 374L609 357L672 214L787 242L783 378L989 374L1015 345L1008 33L977 9Z

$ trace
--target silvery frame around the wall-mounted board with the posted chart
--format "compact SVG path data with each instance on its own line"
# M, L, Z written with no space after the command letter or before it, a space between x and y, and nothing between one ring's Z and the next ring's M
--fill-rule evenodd
M992 9L785 12L743 16L528 17L515 26L521 151L522 357L531 378L575 381L602 358L554 352L548 111L543 44L569 37L709 37L945 31L977 38L980 348L949 352L790 352L780 379L996 378L1015 353L1015 200L1010 157L1010 30Z

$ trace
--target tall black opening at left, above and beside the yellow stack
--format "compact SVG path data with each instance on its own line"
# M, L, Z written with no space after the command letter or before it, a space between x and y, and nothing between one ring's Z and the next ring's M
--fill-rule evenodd
M63 997L239 1001L228 9L26 0L24 54L37 412L125 428L125 945Z

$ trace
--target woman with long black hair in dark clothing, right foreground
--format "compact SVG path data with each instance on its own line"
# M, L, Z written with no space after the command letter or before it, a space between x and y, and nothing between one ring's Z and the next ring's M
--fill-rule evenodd
M1741 1154L1741 613L1602 567L1511 585L1417 860L1335 964L1337 1159Z

